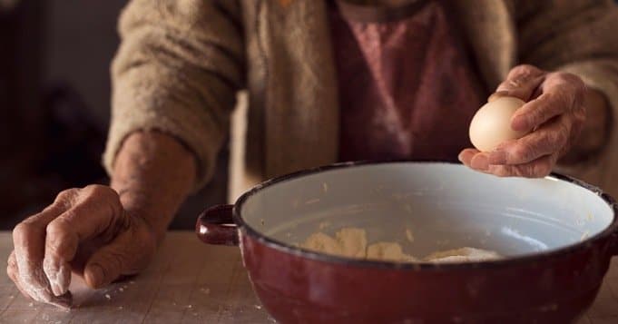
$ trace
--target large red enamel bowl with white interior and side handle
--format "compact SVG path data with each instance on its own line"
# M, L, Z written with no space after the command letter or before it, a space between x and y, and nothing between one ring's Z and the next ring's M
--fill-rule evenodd
M558 174L345 163L264 182L204 211L196 231L240 245L253 289L280 323L568 323L592 304L618 252L616 210L603 191ZM415 256L469 246L505 258L397 263L299 248L313 232L345 227Z

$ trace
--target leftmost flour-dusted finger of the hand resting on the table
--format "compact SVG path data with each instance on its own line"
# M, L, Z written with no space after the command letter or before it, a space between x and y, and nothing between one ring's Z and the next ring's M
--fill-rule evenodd
M45 227L62 213L71 195L64 191L52 205L15 226L15 264L23 290L35 300L51 302L51 289L42 269Z

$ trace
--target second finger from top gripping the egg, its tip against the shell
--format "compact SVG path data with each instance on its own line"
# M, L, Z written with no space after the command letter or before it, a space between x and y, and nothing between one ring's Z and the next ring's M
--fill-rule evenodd
M560 93L543 93L525 103L511 117L511 128L518 132L531 132L557 115L570 111L570 104Z

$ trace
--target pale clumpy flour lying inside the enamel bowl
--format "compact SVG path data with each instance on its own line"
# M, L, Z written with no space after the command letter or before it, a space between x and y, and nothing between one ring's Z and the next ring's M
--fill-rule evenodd
M341 229L335 233L334 238L323 232L316 232L311 234L300 246L308 250L341 257L395 262L475 262L502 258L495 251L465 247L437 251L419 260L406 254L401 244L397 242L380 241L368 244L367 232L358 228Z

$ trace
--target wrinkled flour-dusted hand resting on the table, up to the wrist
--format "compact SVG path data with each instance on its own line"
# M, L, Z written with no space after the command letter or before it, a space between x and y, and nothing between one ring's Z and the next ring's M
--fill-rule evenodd
M92 288L145 268L155 250L148 224L102 185L70 189L19 223L6 272L29 298L70 307L72 271Z

